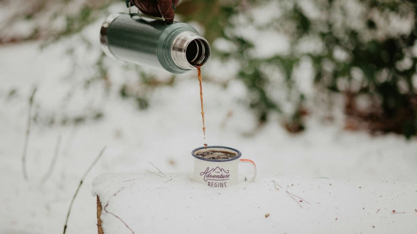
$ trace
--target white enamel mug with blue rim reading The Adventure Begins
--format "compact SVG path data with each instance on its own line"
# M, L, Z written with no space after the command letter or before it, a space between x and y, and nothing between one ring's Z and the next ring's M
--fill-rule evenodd
M207 159L198 157L200 152L216 150L235 153L238 156L230 159ZM253 166L253 177L249 182L255 181L256 165L252 160L240 159L242 153L225 146L200 147L191 154L194 156L194 181L208 187L227 188L238 183L239 163L250 163Z

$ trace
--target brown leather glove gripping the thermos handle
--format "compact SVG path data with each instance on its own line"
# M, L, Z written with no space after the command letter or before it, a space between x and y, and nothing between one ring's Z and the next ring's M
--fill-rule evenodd
M146 15L162 17L166 22L174 21L174 10L179 0L131 0Z

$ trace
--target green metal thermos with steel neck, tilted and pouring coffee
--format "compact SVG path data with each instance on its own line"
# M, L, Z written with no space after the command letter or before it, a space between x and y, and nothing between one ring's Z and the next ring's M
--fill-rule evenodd
M110 15L101 26L100 43L107 56L181 74L204 65L210 45L191 25L167 24L144 15Z

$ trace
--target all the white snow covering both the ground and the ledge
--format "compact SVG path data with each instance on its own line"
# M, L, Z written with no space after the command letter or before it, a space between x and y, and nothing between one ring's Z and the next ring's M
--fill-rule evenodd
M120 6L122 9L123 3ZM321 120L323 103L309 103L313 107L312 114L302 134L288 134L281 126L281 116L277 115L271 115L263 127L257 128L256 116L246 105L245 85L234 78L237 62L213 59L202 68L207 128L204 140L197 73L178 76L173 86L158 87L146 93L150 101L146 110L138 110L133 101L119 96L119 88L125 83L137 86L139 93L146 91L137 85L137 73L129 64L105 59L111 83L109 90L102 80L85 88L85 81L101 53L96 41L100 24L98 20L81 32L81 36L94 42L91 48L81 43L80 35L44 50L39 49L38 42L0 46L0 234L62 233L66 212L81 176L104 146L107 146L104 155L84 180L75 199L67 234L97 231L95 198L91 196L90 184L95 176L110 172L136 173L115 174L114 177L107 174L101 181L96 180L94 191L101 194L103 203L111 199L110 211L127 212L123 219L138 231L151 230L146 225L155 224L153 219L166 224L152 226L154 232L168 227L177 230L188 227L193 231L196 227L208 226L198 215L206 217L217 211L219 216L212 221L218 222L209 225L216 230L235 227L233 233L238 230L255 233L258 231L253 230L255 227L265 228L270 233L343 233L348 232L346 230L353 233L350 232L353 229L357 233L415 232L416 137L407 141L392 134L370 136L366 132L343 131L343 118L338 117L340 109L335 110L339 113L335 122ZM262 36L278 37L276 39L285 42L279 35L265 34ZM221 41L217 43L221 48L227 47ZM269 57L285 54L284 47L282 44L272 48L257 44L255 51L265 53L257 56ZM71 49L73 54L66 54ZM163 71L144 70L159 81L171 77ZM308 73L305 70L301 66L298 71L301 77ZM223 82L228 85L219 85ZM305 82L298 85L303 90L313 90L311 80ZM33 123L30 130L29 181L26 182L21 157L28 98L34 86L38 87L34 113L42 121ZM10 96L13 90L16 94ZM277 89L275 92L285 97L285 93ZM64 117L96 111L103 113L102 119L57 124ZM55 124L47 124L50 117L55 117ZM62 137L62 144L56 166L52 176L41 184L59 137ZM193 168L191 151L204 143L240 150L242 158L256 163L257 181L254 184L241 182L221 192L192 183L186 176ZM145 170L154 171L148 162L173 180L164 183L166 180L159 176L141 174ZM241 166L243 175L250 170L250 166ZM123 176L135 180L120 182ZM316 177L329 179L313 179ZM275 190L271 179L284 189ZM162 184L166 189L156 189L163 187ZM124 186L125 189L112 197ZM138 192L133 197L135 191ZM311 205L303 203L300 208L285 191L306 199ZM161 196L154 195L157 193ZM134 203L133 198L148 200L149 204ZM127 201L132 201L132 209L125 210ZM176 202L171 204L170 201ZM149 209L155 202L161 205ZM256 204L261 202L263 205L257 208ZM227 206L217 206L218 210L214 210L216 206L210 204ZM177 212L164 206L172 206ZM193 212L184 212L186 206ZM228 209L230 206L234 209ZM392 210L406 213L391 215ZM224 221L221 214L225 212L235 216ZM140 216L144 214L149 216ZM265 218L266 214L270 216ZM129 231L114 217L103 214L103 220L103 225L109 225L108 230L116 229L115 233ZM251 223L247 223L248 220ZM257 225L250 225L253 223Z

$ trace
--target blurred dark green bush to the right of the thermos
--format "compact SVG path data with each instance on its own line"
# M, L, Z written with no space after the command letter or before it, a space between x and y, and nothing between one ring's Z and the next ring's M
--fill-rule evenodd
M257 110L260 121L266 120L270 111L281 112L282 106L266 92L274 79L263 73L263 66L268 64L285 74L288 92L299 95L292 100L297 108L287 124L298 125L293 128L294 132L304 129L300 110L305 96L294 90L297 88L293 74L300 59L307 56L315 73L316 86L346 94L346 98L352 99L347 101L351 104L359 95L371 98L367 110L347 105L348 116L366 122L374 133L396 132L406 137L416 134L417 52L413 48L417 39L417 7L414 1L314 0L307 7L303 5L305 1L279 1L278 17L257 28L259 31L274 29L285 35L290 40L289 53L266 59L248 56L247 52L254 47L253 41L235 33L233 29L239 27L236 18L244 18L247 26L256 25L251 10L270 2L196 0L186 1L177 8L186 20L198 20L204 25L207 39L213 41L222 37L237 47L232 53L218 51L217 55L240 62L238 77L256 93L250 107ZM310 11L319 13L314 15ZM409 29L407 24L411 25ZM310 46L322 44L323 48L316 53L300 53L297 46L306 38L319 39Z

